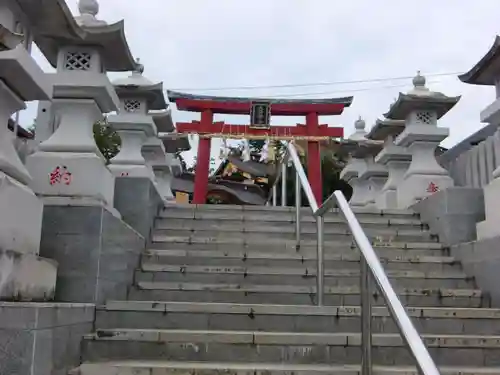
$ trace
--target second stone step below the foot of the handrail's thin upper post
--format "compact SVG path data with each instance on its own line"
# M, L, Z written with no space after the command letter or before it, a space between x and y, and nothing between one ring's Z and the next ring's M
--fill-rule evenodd
M474 287L473 278L461 271L422 272L389 270L387 274L393 285L407 288L467 288ZM325 269L325 285L359 285L358 269ZM202 284L283 284L310 285L316 283L316 267L270 266L226 267L215 266L178 266L157 263L142 263L136 271L136 281L196 282Z

